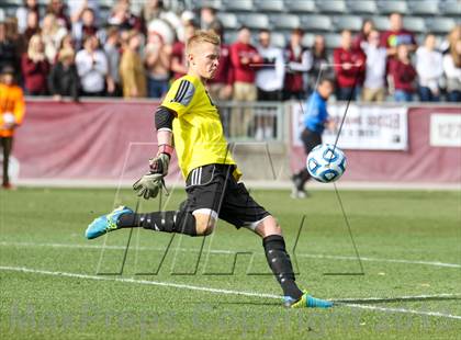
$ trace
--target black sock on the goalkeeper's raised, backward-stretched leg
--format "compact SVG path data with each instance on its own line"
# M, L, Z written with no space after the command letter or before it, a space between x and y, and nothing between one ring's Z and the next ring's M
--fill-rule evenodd
M119 218L117 226L196 236L195 216L183 211L123 214Z

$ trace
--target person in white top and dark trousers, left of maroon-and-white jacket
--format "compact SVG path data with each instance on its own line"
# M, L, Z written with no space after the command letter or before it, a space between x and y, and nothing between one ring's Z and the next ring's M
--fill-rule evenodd
M270 43L270 32L259 32L258 54L262 57L262 64L257 66L256 87L259 101L280 101L282 99L285 65L283 50ZM274 137L274 116L261 114L257 116L256 139L270 139Z

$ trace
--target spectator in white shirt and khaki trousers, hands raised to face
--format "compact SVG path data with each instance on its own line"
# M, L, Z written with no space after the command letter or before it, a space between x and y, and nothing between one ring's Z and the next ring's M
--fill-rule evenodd
M366 79L362 99L364 102L382 102L385 98L385 71L387 50L380 46L380 33L372 30L360 45L367 55Z

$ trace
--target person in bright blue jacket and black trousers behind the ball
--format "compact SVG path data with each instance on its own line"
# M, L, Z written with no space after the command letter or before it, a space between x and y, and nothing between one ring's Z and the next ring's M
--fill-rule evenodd
M306 103L304 114L304 129L301 134L301 140L304 144L305 154L317 145L322 144L322 134L325 127L333 127L333 122L328 120L327 101L334 91L334 83L330 79L324 78L318 83L317 89L312 93ZM306 196L304 184L311 179L306 167L303 167L297 173L293 174L293 199L303 199Z

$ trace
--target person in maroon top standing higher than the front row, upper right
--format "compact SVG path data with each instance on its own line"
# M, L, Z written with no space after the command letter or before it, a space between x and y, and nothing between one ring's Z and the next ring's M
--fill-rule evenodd
M387 48L387 55L390 57L396 56L398 45L407 45L409 52L416 50L415 35L403 29L402 15L392 13L389 21L391 30L381 34L381 45Z

